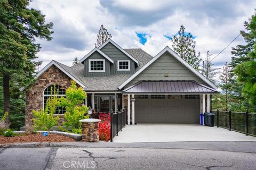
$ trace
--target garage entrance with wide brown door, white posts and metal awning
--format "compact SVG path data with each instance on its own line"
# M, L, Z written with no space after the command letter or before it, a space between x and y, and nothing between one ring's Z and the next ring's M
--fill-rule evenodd
M127 122L199 124L210 112L210 94L218 91L196 81L139 81L127 94ZM130 121L129 121L130 120Z

